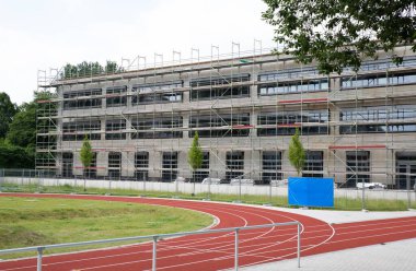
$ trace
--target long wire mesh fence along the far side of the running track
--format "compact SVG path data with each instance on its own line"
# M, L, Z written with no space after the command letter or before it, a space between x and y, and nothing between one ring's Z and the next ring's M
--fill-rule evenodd
M190 177L190 176L189 176ZM212 178L203 182L193 178L175 181L149 181L119 178L63 178L54 172L39 169L0 169L1 192L35 193L93 193L195 200L231 201L242 203L288 207L287 181L256 185L247 179L234 178L230 184ZM335 209L397 211L416 209L416 191L385 188L335 188Z

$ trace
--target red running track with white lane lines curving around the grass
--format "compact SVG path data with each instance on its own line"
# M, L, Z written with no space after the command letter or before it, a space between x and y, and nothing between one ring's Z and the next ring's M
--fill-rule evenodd
M0 197L69 198L137 202L177 207L209 213L218 219L212 228L299 221L302 224L301 255L416 237L416 216L330 225L304 215L250 205L102 196L2 193ZM297 227L240 232L240 266L252 266L296 257ZM151 270L151 244L48 256L43 270ZM233 233L184 236L158 241L158 270L222 270L234 264ZM35 270L35 259L0 262L0 270Z

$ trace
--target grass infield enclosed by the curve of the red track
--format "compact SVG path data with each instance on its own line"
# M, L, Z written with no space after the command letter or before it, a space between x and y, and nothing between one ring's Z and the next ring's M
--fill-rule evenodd
M0 249L195 231L211 223L207 214L169 207L0 197Z

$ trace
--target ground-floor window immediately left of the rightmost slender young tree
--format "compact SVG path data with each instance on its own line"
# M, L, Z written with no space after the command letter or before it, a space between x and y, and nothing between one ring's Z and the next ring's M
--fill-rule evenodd
M281 179L281 152L264 151L262 154L262 181L270 184L270 180Z

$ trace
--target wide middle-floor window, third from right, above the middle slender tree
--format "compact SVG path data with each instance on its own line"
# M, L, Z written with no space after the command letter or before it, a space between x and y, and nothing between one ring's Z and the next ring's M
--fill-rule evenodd
M196 115L190 117L189 127L193 129L189 132L190 138L195 136L195 131L198 131L200 138L249 137L250 114Z

